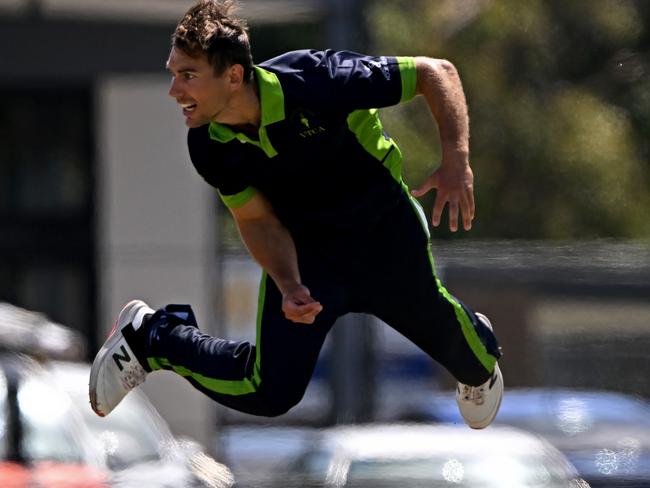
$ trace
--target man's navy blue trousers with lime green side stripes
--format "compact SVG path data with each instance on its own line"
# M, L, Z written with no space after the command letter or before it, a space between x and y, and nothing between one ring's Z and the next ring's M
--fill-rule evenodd
M236 410L280 415L303 397L334 322L362 312L410 339L457 380L484 383L500 356L497 340L440 283L416 205L404 194L363 231L296 239L303 283L323 305L315 323L288 321L281 294L264 273L256 344L203 334L188 305L168 305L147 322L149 367L175 371Z

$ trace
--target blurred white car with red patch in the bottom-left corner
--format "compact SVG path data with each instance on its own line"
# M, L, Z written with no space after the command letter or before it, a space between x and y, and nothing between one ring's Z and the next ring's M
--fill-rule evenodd
M0 353L0 486L99 488L110 473L64 393L28 356Z

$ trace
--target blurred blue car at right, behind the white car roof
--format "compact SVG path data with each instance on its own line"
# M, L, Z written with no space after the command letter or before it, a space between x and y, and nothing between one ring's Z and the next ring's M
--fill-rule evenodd
M433 395L401 419L462 423L450 395ZM506 389L494 425L542 435L592 487L650 487L650 403L617 392Z

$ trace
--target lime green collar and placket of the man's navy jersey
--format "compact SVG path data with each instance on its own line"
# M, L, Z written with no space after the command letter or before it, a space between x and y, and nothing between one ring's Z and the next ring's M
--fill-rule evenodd
M284 120L284 93L280 80L275 73L259 66L254 66L257 86L260 90L261 125L258 130L259 140L254 141L246 134L235 132L229 126L218 122L210 122L210 138L219 142L230 142L237 138L241 142L249 142L261 147L268 157L273 157L277 151L271 145L266 133L266 126Z

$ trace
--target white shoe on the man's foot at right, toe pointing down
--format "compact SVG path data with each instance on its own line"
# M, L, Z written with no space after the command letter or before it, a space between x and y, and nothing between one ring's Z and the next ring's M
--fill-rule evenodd
M490 330L492 324L480 313L476 317ZM469 386L458 383L456 388L456 403L465 423L472 429L484 429L492 423L501 406L503 398L503 375L499 365L494 365L494 372L489 380L480 386Z

